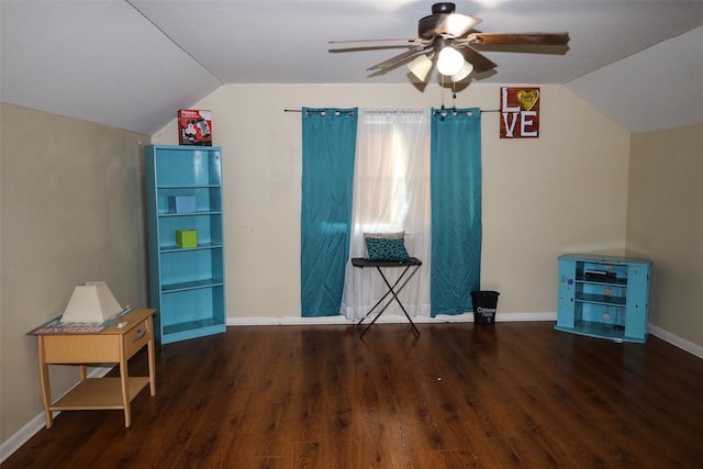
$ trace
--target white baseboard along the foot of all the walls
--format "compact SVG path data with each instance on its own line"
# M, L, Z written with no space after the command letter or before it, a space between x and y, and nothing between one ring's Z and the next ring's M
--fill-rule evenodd
M379 317L377 323L392 324L403 323L408 320L405 316L398 314L386 314ZM431 323L472 323L473 313L457 314L455 316L440 314L436 317L413 317L413 321L417 324L431 324ZM557 313L498 313L495 315L496 323L503 322L521 322L521 321L557 321ZM347 320L339 316L323 316L323 317L227 317L228 326L271 326L271 325L310 325L310 324L356 324L356 321ZM699 358L703 359L703 347L693 344L684 338L681 338L668 331L649 324L648 331L651 335L661 338L669 344L679 347ZM105 376L112 368L96 368L89 375L90 378L100 378ZM54 415L57 415L55 412ZM16 451L22 445L24 445L32 436L34 436L40 429L46 425L44 420L44 413L38 414L32 418L26 425L24 425L18 433L12 435L5 442L0 445L0 464L9 458L14 451Z

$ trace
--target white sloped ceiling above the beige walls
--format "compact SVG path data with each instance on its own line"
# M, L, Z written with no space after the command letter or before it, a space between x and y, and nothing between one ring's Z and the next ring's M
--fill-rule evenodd
M433 1L0 0L0 99L154 133L224 83L408 83L400 51ZM631 132L703 122L703 0L477 0L482 32L569 32L566 54L490 52L471 83L562 83ZM411 86L411 85L409 85ZM334 103L331 103L334 104Z

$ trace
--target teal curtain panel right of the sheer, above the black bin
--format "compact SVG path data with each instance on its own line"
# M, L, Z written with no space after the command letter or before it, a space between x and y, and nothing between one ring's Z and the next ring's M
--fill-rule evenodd
M432 112L432 316L472 311L481 284L481 111Z

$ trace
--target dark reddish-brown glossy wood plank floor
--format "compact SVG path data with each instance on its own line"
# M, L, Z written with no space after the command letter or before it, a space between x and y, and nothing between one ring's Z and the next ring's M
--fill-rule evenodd
M703 360L553 326L230 327L157 348L131 428L64 412L2 468L703 467Z

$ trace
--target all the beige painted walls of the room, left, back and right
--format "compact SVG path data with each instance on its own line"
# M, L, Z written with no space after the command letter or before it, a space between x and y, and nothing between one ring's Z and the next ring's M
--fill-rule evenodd
M703 258L703 129L638 134L631 149L627 132L568 89L544 86L542 97L538 139L500 139L499 115L482 118L483 288L501 292L500 312L554 313L558 255L627 246L655 259L651 322L703 344L703 278L691 261ZM450 93L444 99L451 105ZM193 105L212 109L225 156L228 319L300 316L301 124L283 110L440 104L436 87L225 86ZM496 109L499 87L472 85L456 104ZM105 280L122 303L146 303L149 137L8 104L0 111L4 443L42 412L29 330L60 314L86 280ZM152 138L176 144L175 121ZM57 397L77 373L55 367L52 379Z

